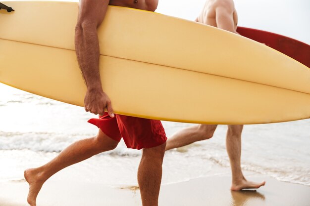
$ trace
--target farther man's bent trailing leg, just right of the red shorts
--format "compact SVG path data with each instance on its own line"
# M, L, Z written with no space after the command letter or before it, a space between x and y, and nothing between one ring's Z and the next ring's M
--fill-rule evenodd
M217 125L213 124L199 124L183 129L168 138L166 150L209 139L213 136L216 127Z

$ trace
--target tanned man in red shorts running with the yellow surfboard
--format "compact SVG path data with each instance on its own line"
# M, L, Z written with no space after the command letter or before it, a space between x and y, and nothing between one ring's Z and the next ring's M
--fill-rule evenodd
M64 149L41 167L25 170L29 183L28 203L36 206L42 185L59 170L114 149L121 137L128 148L143 149L138 183L143 206L157 206L166 135L160 121L114 115L111 101L102 89L99 74L97 28L103 22L108 4L155 11L158 0L80 0L75 29L75 47L80 69L87 85L85 110L99 114L89 122L100 129L97 136L83 139ZM104 113L104 109L107 113Z

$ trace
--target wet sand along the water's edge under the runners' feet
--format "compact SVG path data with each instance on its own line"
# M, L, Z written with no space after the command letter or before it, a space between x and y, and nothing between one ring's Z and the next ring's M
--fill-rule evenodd
M202 177L161 186L159 206L310 206L310 187L264 176L258 190L230 191L229 176ZM0 206L28 206L25 181L0 183ZM135 185L107 186L83 182L47 181L38 206L141 206Z

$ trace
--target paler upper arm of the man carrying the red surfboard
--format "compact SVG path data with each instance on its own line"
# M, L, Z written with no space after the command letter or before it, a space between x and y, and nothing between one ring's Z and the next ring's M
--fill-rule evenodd
M238 34L235 30L233 13L234 3L231 0L222 0L215 8L215 19L217 28Z

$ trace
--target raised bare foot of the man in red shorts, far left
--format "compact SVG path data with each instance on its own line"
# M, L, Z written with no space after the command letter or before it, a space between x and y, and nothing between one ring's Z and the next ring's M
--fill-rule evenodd
M41 190L43 183L46 180L42 180L41 173L37 171L38 169L27 169L24 171L24 177L29 184L29 193L27 197L27 202L30 206L36 206L36 200L38 193Z

